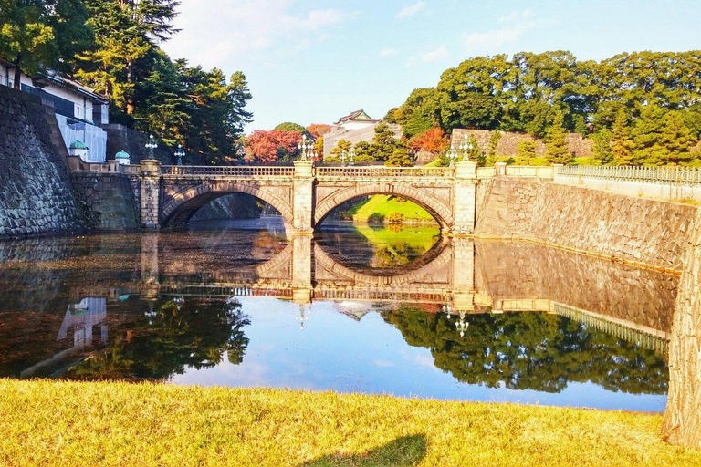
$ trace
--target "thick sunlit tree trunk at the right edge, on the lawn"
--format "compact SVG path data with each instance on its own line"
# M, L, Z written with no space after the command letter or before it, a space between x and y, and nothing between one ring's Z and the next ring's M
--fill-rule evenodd
M701 449L701 209L686 245L669 345L669 396L662 434Z

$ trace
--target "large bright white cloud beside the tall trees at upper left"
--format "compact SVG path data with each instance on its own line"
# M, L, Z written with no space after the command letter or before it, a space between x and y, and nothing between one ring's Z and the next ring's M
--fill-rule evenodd
M213 67L222 57L246 57L283 44L304 47L350 17L336 8L292 14L290 5L289 0L209 0L204 7L201 0L183 0L175 20L182 31L163 47L173 58Z

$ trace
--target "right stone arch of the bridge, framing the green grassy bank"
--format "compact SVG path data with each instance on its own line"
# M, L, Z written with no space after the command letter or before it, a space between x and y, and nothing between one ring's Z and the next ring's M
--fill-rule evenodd
M319 225L324 218L343 202L372 194L393 194L415 202L430 213L442 230L450 230L453 225L453 212L450 204L435 197L431 188L414 188L408 183L377 183L358 184L334 192L319 202L314 210L314 225Z

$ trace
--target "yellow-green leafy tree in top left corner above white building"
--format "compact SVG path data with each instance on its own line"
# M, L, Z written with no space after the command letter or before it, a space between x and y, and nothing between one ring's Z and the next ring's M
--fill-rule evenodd
M0 0L0 57L38 78L48 67L69 71L73 57L89 47L88 11L80 0Z

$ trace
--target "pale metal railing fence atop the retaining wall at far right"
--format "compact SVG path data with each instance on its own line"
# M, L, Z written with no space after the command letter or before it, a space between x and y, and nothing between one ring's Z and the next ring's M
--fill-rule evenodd
M626 167L565 165L556 168L557 177L577 177L664 185L701 185L701 170L689 167Z

